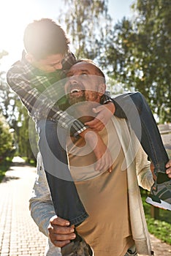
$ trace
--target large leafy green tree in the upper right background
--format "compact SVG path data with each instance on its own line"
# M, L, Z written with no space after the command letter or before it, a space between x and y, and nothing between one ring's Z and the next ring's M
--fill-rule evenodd
M159 116L171 116L170 0L137 0L133 20L123 18L107 38L106 66L112 78L145 95Z

